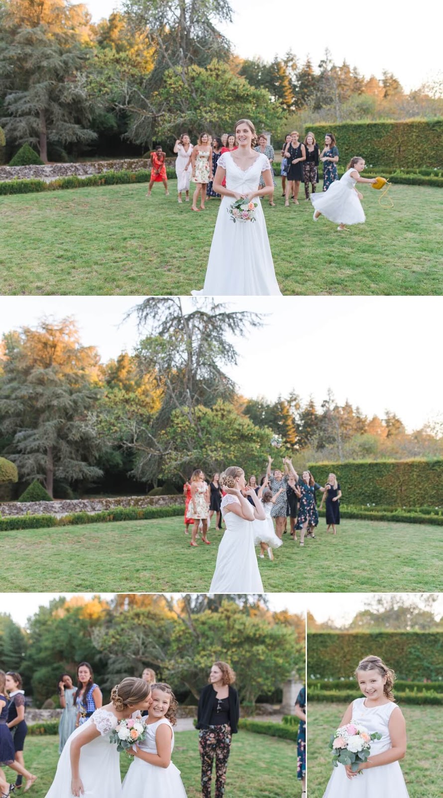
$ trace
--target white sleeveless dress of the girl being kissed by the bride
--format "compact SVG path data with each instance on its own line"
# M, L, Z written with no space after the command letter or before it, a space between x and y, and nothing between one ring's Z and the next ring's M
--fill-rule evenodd
M147 753L157 753L155 733L159 725L166 723L172 731L171 753L174 749L174 731L166 717L147 725L147 737L140 743L139 748ZM104 796L103 796L104 798ZM135 759L122 785L122 798L186 798L180 771L170 762L167 768L159 768L156 764Z

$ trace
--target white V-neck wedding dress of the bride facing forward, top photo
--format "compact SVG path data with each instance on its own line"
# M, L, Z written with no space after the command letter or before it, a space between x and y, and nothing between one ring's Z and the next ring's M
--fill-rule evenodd
M226 188L237 194L257 191L261 173L271 168L263 153L246 170L237 166L231 152L223 152L217 165L226 170ZM233 222L228 209L234 199L222 197L205 285L201 291L191 291L193 296L280 295L261 201L259 197L253 201L256 221Z

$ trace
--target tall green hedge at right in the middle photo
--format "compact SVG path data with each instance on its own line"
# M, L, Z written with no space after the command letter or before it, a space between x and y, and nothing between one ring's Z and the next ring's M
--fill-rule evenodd
M330 472L336 474L346 504L442 504L443 460L312 463L308 468L322 485Z

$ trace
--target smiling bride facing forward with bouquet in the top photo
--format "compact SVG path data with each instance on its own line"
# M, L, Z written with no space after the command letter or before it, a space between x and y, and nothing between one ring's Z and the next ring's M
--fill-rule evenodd
M276 281L268 232L260 197L272 194L271 164L253 150L257 138L253 123L241 119L235 126L238 148L218 159L213 190L222 194L215 223L205 285L193 296L281 294ZM265 188L258 188L261 175ZM222 185L223 178L226 185ZM236 199L256 201L256 221L233 222L229 206Z

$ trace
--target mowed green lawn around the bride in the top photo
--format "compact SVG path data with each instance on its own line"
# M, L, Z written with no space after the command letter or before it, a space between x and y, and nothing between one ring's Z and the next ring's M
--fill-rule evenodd
M320 184L321 185L321 184ZM363 188L367 223L340 234L312 205L263 201L284 294L441 294L443 192ZM203 213L146 184L0 197L0 294L174 294L202 288L218 200Z

